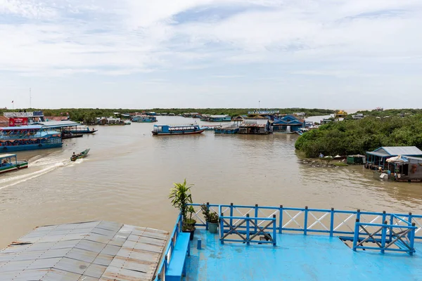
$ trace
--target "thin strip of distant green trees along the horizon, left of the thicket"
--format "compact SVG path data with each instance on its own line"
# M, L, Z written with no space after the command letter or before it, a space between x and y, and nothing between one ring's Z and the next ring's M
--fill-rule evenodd
M157 112L157 113L174 113L175 115L184 114L186 112L198 112L205 115L230 115L231 117L238 115L246 115L249 111L254 111L256 108L152 108L152 109L139 109L129 110L124 108L118 109L101 109L101 108L60 108L57 110L43 110L43 109L26 109L27 111L42 110L45 116L61 116L68 113L70 119L77 122L92 123L96 117L110 117L113 116L113 112L120 113L132 113L132 112ZM283 114L291 114L293 112L305 112L306 116L319 116L319 115L331 115L334 110L324 110L318 108L270 108L261 110L279 110ZM0 114L3 115L4 111L12 110L0 110ZM19 110L13 110L19 111ZM93 121L94 120L94 121Z

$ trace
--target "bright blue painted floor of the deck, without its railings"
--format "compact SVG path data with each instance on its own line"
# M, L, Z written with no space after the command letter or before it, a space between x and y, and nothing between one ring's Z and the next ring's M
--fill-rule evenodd
M409 256L354 252L326 235L277 235L276 247L246 246L220 244L219 235L196 230L184 280L422 280L421 242Z

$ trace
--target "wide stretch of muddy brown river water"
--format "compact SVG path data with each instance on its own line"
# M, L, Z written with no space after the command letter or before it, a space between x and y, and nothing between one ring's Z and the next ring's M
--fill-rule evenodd
M314 118L314 121L319 117ZM158 124L199 119L158 117ZM412 211L422 184L374 179L363 166L302 164L297 135L152 136L153 124L97 126L63 148L18 152L28 169L0 176L0 248L36 226L107 220L172 230L172 183L187 179L195 202ZM72 152L91 148L70 162Z

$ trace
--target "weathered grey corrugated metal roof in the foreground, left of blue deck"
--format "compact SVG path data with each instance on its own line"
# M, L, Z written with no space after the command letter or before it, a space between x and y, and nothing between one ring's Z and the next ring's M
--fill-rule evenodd
M0 281L153 280L168 237L109 221L42 226L0 251Z

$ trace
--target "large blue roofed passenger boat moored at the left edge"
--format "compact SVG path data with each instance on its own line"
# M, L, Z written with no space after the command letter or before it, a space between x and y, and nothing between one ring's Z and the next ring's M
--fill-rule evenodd
M60 148L61 134L39 125L0 128L0 152Z

